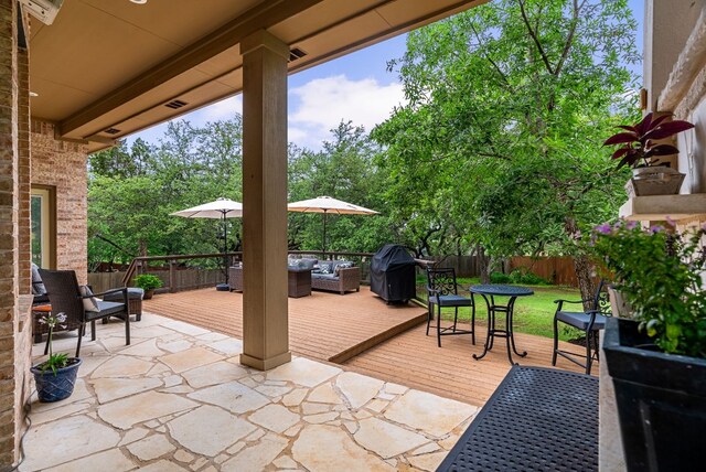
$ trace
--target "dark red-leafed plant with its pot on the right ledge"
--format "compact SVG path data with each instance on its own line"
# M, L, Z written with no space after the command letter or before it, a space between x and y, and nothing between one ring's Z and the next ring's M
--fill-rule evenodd
M624 131L611 136L603 146L620 147L611 159L619 159L618 169L632 168L632 179L625 184L630 197L642 195L671 195L680 192L684 174L660 162L661 157L678 153L672 144L657 141L694 128L688 121L666 121L667 115L655 118L648 114L634 126L619 126Z

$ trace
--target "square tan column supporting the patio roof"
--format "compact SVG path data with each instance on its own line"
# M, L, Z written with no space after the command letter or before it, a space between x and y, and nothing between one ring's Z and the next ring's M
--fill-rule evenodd
M291 360L287 313L287 61L266 31L243 54L243 354L267 371Z

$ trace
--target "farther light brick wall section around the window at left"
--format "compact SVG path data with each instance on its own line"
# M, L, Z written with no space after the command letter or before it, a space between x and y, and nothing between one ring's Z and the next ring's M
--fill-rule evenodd
M73 269L87 283L87 171L82 144L54 139L54 126L32 120L32 184L56 195L56 268Z

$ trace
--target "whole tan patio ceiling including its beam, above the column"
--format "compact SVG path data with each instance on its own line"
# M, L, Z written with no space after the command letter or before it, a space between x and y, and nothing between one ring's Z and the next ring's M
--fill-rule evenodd
M89 151L236 95L239 42L266 30L295 73L488 0L65 0L32 19L32 117Z

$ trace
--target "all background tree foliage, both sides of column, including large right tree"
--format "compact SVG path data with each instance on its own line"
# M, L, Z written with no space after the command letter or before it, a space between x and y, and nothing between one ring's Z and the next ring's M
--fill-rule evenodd
M638 115L625 67L639 60L635 28L627 0L494 0L414 31L389 64L406 104L373 140L343 121L320 151L291 144L289 201L329 195L382 212L330 217L331 250L568 254L586 282L575 239L623 200L625 174L601 143ZM169 213L242 200L242 135L239 116L178 121L159 146L93 155L89 230L114 245L92 238L90 257L218 250L217 224ZM229 225L238 249L239 221ZM321 216L290 214L288 238L319 249Z

